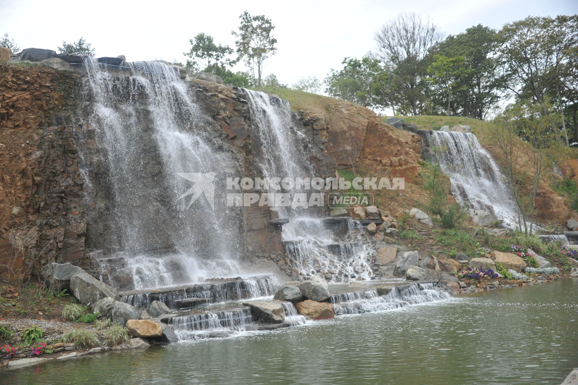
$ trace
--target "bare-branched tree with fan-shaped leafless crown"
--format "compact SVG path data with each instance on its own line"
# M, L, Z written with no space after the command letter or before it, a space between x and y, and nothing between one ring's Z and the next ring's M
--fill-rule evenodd
M416 13L399 14L375 35L378 54L394 65L395 85L403 111L417 115L424 101L430 49L442 39L431 20L423 21Z

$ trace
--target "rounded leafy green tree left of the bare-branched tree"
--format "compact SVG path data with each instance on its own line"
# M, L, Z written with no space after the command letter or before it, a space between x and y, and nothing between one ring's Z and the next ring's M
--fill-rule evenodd
M331 69L331 74L325 78L325 92L363 107L387 107L386 90L390 78L380 66L379 59L346 57L341 64L343 69Z

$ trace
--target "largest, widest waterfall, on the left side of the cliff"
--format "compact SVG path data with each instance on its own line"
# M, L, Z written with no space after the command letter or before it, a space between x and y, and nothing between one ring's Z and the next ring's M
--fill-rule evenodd
M135 289L144 289L237 276L242 216L213 210L204 197L191 207L187 197L180 199L192 184L177 173L236 166L231 152L198 127L198 107L175 68L138 61L129 63L127 76L106 71L92 57L84 65L80 148L96 143L103 163L103 175L91 173L90 156L81 154L91 185L87 205L106 201L112 217L101 225L105 245L89 246L113 256L107 266L122 274L111 282L120 285L130 276ZM98 218L97 210L88 211Z

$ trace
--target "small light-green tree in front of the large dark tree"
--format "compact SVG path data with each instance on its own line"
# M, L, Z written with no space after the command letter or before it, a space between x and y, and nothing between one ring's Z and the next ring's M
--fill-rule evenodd
M433 63L428 67L431 74L429 80L442 88L447 94L446 115L450 116L451 95L454 91L466 88L464 78L470 69L465 67L465 57L446 57L439 54L433 56Z

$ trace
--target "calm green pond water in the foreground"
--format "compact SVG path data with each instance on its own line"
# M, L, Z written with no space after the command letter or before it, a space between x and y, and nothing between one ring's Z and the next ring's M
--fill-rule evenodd
M578 280L0 373L6 384L560 384ZM2 380L4 379L4 380Z

